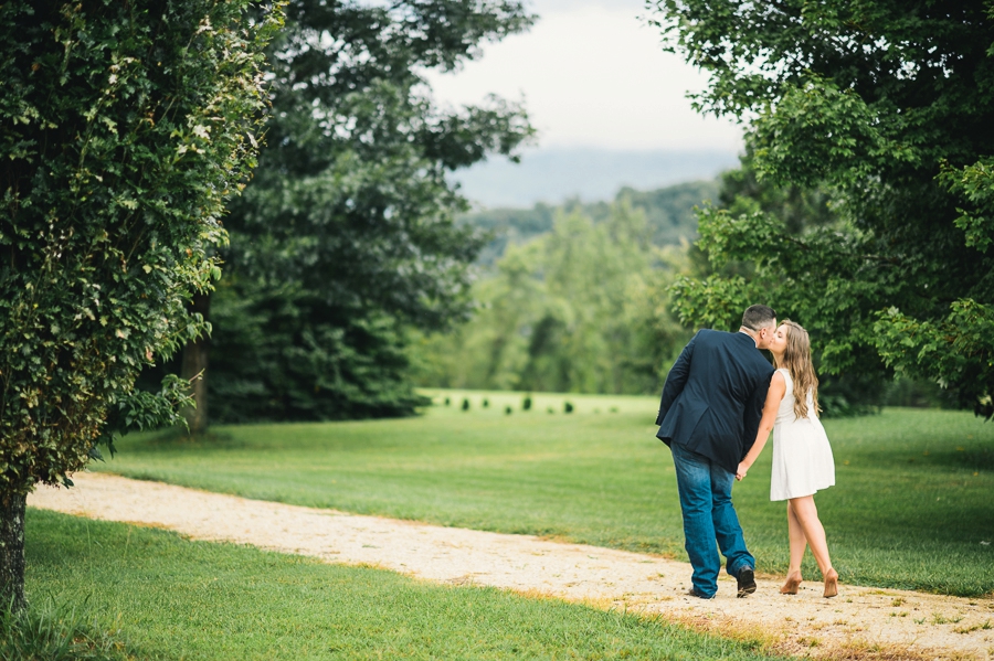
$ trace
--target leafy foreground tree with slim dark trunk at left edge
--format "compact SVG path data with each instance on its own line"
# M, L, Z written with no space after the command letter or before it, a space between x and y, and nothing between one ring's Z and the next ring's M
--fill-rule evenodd
M0 4L0 607L24 605L25 495L181 398L131 388L202 326L266 100L254 4Z

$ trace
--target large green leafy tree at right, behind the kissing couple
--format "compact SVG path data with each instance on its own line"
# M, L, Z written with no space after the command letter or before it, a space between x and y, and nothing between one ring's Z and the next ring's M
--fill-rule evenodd
M698 107L747 122L760 178L825 190L839 218L706 211L719 270L678 285L684 318L769 300L815 332L823 370L897 370L994 414L994 3L649 4L710 73Z

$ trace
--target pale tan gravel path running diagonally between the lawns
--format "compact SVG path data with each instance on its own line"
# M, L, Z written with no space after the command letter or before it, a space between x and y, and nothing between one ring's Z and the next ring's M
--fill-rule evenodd
M760 638L787 653L994 661L992 599L845 584L837 598L823 599L817 582L785 597L778 593L780 577L758 577L758 591L737 599L736 582L722 576L718 598L706 601L684 596L690 565L657 556L247 500L105 473L77 473L73 480L74 489L43 488L28 504L166 527L194 540L376 565L440 583L662 614L699 629Z

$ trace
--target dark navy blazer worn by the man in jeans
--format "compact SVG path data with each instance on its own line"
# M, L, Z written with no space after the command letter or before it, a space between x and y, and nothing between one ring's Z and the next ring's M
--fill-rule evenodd
M736 472L755 441L772 376L745 333L699 331L666 375L656 437Z

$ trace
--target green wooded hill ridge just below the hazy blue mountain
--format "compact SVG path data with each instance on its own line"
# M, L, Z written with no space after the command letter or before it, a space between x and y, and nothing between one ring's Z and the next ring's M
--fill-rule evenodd
M705 201L718 200L718 182L690 181L653 191L623 188L614 202L625 202L633 209L642 210L652 228L652 241L656 245L679 244L697 238L697 215L695 206ZM539 202L530 209L485 209L469 213L461 222L493 233L494 239L480 253L477 264L494 264L504 255L508 244L521 244L530 238L552 231L556 214L578 211L594 222L611 215L612 202L588 202L568 200L559 205Z

